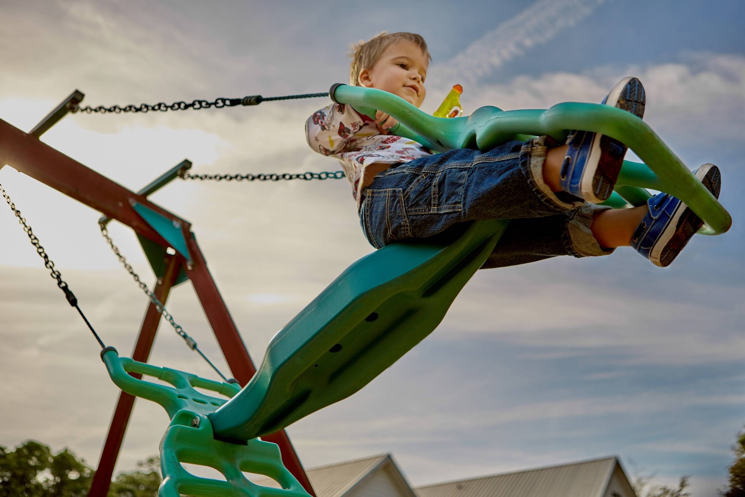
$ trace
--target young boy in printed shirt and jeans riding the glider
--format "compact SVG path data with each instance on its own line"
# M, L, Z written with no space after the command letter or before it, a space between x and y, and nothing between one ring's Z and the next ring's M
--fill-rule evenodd
M383 32L355 47L350 83L419 107L430 60L418 34ZM641 118L644 88L626 77L603 104ZM564 255L605 256L623 246L665 267L703 225L684 203L664 193L630 209L595 205L610 196L627 151L608 136L574 131L560 146L539 136L484 153L461 148L434 154L388 135L397 122L390 115L378 111L375 117L332 104L311 115L305 130L314 151L340 160L362 229L378 249L435 235L454 223L497 218L513 221L482 268ZM695 174L719 197L717 166L701 165Z

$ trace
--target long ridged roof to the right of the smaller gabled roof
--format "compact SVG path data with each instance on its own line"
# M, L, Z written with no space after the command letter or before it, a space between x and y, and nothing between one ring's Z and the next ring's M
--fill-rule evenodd
M615 457L416 487L419 497L601 497Z

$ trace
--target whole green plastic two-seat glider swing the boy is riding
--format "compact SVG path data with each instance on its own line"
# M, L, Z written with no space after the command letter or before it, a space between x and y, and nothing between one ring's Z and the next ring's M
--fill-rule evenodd
M536 135L562 139L574 129L602 133L624 142L646 162L624 161L606 204L642 205L650 188L681 198L706 223L702 234L719 235L732 224L729 213L659 136L615 107L565 103L507 112L481 107L466 117L435 118L378 89L335 85L330 95L369 115L375 109L392 115L401 123L393 133L436 151L487 151ZM159 496L308 496L282 466L277 446L257 437L352 395L422 341L484 264L508 223L455 225L431 238L391 244L353 263L275 335L261 367L242 390L104 349L101 356L113 382L127 393L158 402L171 417L160 444L164 481ZM154 376L172 387L127 373ZM192 475L181 463L211 466L226 481ZM253 484L243 471L270 476L282 488Z

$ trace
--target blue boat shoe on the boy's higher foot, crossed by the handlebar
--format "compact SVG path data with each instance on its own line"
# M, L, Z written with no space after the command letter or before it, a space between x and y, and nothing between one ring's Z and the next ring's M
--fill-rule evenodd
M635 77L624 77L602 103L643 118L644 86ZM569 148L559 173L562 189L590 203L610 197L624 165L627 146L609 136L580 130L569 133L566 144Z

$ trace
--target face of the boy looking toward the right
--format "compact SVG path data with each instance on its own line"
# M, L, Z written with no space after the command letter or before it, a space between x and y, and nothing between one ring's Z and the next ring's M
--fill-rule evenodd
M359 83L398 95L416 107L422 105L429 61L416 43L401 40L385 49L370 69L362 69Z

